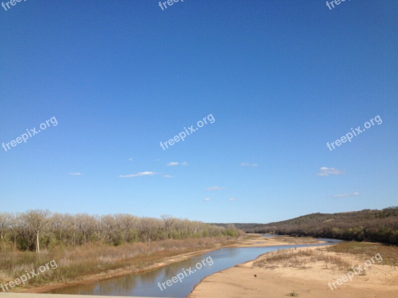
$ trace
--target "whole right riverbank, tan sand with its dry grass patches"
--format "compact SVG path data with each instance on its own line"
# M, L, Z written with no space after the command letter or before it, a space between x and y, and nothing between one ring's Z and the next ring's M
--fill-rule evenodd
M397 297L397 247L369 243L350 250L344 246L340 250L322 246L266 253L202 279L188 297ZM382 262L376 261L352 281L335 284L336 289L328 286L374 257L376 251L384 255Z

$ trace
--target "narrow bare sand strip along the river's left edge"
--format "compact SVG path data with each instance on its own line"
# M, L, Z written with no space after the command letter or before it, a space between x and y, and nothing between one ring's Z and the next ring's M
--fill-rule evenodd
M202 241L204 241L202 239ZM248 234L246 237L239 238L235 241L224 241L224 242L215 242L211 245L207 243L207 247L191 247L188 248L190 251L171 251L166 253L162 251L161 254L153 256L146 256L147 260L145 262L140 259L140 264L138 266L137 263L131 264L132 260L115 260L116 262L123 263L123 266L120 265L119 268L114 268L112 270L105 270L103 272L98 272L96 274L82 274L81 276L77 276L75 278L71 278L67 281L63 282L49 282L42 285L31 285L26 284L25 288L16 289L14 292L18 293L46 293L53 289L62 288L65 286L75 286L75 285L86 285L92 284L101 280L106 280L109 278L114 278L118 276L153 270L157 268L161 268L163 266L167 266L174 262L179 262L186 260L192 256L200 255L202 253L213 251L222 247L255 247L255 246L274 246L274 245L287 245L287 244L303 244L307 243L317 243L320 242L314 238L295 238L295 237L271 237L265 238L261 237L259 234ZM199 243L197 243L199 244ZM202 243L203 245L203 243ZM140 256L142 258L142 255ZM65 259L63 262L67 262ZM59 262L62 264L62 262ZM59 264L59 265L60 265Z

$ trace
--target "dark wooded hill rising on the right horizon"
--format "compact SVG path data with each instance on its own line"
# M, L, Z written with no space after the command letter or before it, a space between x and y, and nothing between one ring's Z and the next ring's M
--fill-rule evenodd
M226 226L226 224L217 224ZM356 212L312 213L270 224L234 224L250 233L277 233L398 244L398 207Z

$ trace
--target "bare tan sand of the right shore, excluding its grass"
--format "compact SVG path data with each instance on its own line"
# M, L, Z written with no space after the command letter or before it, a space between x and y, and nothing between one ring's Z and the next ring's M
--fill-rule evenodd
M286 243L285 243L286 244ZM305 247L298 250L312 250L315 254L327 258L341 258L357 266L367 259L351 254L327 252L326 247ZM285 250L284 250L285 251ZM289 250L291 251L291 250ZM271 252L259 256L235 267L222 270L204 278L189 298L280 298L280 297L339 297L339 298L397 298L398 268L380 265L377 262L366 270L366 275L355 275L336 289L328 287L329 282L336 282L347 272L337 265L325 261L313 261L303 256L294 264L289 260L279 260L270 264L265 262L261 267L254 266L264 256L277 254ZM295 253L292 251L292 253ZM308 252L310 253L310 252ZM263 259L262 259L263 258ZM258 263L257 263L258 265ZM299 265L299 266L297 266ZM265 268L263 268L265 267ZM257 277L255 277L255 275ZM333 287L333 286L331 286Z

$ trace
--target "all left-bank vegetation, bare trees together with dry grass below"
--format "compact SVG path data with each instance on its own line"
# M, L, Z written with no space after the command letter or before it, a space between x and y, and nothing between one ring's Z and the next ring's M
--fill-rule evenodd
M128 214L92 216L47 210L0 213L0 283L55 260L29 285L66 282L110 270L140 270L181 254L218 248L244 236L225 227L180 220L138 218Z

